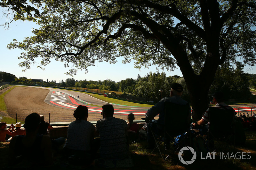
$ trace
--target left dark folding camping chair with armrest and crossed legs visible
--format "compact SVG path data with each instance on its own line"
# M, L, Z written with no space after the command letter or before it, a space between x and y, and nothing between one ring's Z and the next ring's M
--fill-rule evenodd
M157 134L158 139L156 137L156 134L154 134L153 130L151 129L151 127L150 126L148 127L156 143L156 147L154 148L152 153L157 148L161 157L163 159L167 159L167 157L170 154L168 154L165 157L165 151L166 151L166 145L167 145L166 138L168 137L172 142L176 143L174 140L174 137L184 134L190 130L190 120L191 120L191 109L189 107L189 104L179 105L179 104L174 104L167 101L164 102L164 124L151 122L151 123L156 123L158 128L161 129L161 133ZM164 156L159 148L160 144L162 143L164 143ZM176 147L177 149L178 147L180 147L178 143L176 144Z

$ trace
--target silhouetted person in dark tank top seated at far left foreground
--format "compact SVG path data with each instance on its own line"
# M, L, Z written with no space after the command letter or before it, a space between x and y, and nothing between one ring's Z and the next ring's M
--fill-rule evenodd
M12 165L19 163L19 168L38 168L52 164L51 139L48 135L38 135L39 126L40 115L31 113L26 117L26 136L13 137L9 145Z

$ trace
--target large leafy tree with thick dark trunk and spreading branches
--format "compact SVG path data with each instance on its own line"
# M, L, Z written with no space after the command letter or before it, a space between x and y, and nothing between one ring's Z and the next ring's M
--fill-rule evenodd
M20 66L52 58L85 69L98 60L135 67L180 67L192 102L193 119L208 107L208 93L219 65L237 58L255 64L254 0L42 0L41 28L23 42ZM25 69L25 70L26 70ZM75 74L76 69L71 69Z

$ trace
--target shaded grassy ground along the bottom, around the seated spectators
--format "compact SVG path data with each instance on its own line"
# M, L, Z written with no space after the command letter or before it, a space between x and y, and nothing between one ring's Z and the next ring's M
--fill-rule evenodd
M247 170L256 169L256 132L246 132L247 140L244 145L228 146L223 151L223 146L216 144L216 154L213 159L213 154L210 157L197 155L195 162L190 165L181 163L178 157L178 152L174 152L173 148L169 151L170 156L163 160L158 151L145 149L147 141L140 141L140 143L130 144L131 158L134 166L131 168L114 168L127 170L167 170L167 169L207 169L207 170ZM8 167L8 147L9 143L0 143L0 166L6 169ZM168 153L169 153L168 152ZM236 154L237 153L237 154ZM223 156L224 154L224 156ZM244 156L243 156L244 155ZM243 159L242 159L243 156ZM184 154L184 160L191 160L192 153ZM207 159L206 159L207 158ZM67 162L61 160L61 153L58 152L54 157L54 165L47 167L47 169L81 169L70 166ZM8 168L7 168L8 169ZM86 169L100 170L102 168L87 167Z

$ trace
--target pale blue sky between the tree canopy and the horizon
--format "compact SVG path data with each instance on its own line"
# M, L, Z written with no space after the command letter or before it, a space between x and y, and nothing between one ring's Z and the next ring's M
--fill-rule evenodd
M0 16L2 17L2 14ZM0 18L0 25L4 23L4 19L5 18ZM140 74L141 77L144 77L150 71L157 72L157 66L151 66L149 69L141 68L139 70L134 68L133 62L123 64L122 58L119 58L116 64L96 61L95 66L88 67L89 73L85 74L83 70L78 70L78 73L74 75L74 77L64 74L70 69L70 67L65 68L64 63L57 62L54 59L51 60L50 64L44 67L45 70L37 68L35 64L31 65L30 70L22 72L22 69L24 68L21 68L18 65L21 62L21 60L18 59L18 56L20 56L20 53L23 51L21 51L20 49L8 50L6 46L8 43L12 42L13 39L16 39L18 42L20 42L23 41L24 37L33 36L33 33L31 32L32 27L38 28L35 23L28 21L13 21L8 29L4 28L3 26L0 27L0 71L12 73L18 78L24 76L32 79L43 79L44 81L46 81L47 78L49 81L54 81L55 79L57 83L61 81L61 79L65 81L67 78L74 78L76 80L87 79L95 81L103 81L104 79L109 78L111 80L114 80L115 82L118 82L126 78L136 79L138 74ZM244 68L244 71L252 74L256 73L256 66L253 66L251 70L249 70L248 68L249 66L246 66ZM166 76L182 76L179 69L176 69L173 72L168 72L167 70L159 70L159 72L165 72Z

